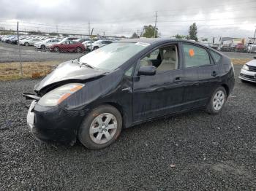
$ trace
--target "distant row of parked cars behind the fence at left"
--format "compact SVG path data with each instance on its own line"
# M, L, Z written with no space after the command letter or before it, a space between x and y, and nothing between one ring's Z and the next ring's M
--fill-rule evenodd
M17 35L0 36L2 42L18 44ZM85 52L96 50L106 44L112 43L109 39L78 39L76 37L56 37L56 36L20 36L19 44L29 47L34 46L38 50L50 50L51 52Z

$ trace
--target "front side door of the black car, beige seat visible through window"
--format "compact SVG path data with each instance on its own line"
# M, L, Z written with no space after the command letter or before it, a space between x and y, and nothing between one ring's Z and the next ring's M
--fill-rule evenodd
M181 109L184 87L179 55L178 44L170 44L149 52L138 61L140 66L156 66L157 73L154 76L138 76L135 72L132 96L134 122Z

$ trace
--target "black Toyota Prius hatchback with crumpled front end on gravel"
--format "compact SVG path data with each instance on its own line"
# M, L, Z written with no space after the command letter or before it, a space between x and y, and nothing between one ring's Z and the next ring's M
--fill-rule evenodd
M222 111L234 86L230 59L203 44L127 39L61 63L34 87L29 129L42 141L89 149L123 128L191 109Z

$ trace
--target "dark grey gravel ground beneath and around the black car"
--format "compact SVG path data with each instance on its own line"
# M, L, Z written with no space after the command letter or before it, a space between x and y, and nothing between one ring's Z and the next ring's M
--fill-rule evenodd
M146 122L91 151L29 133L21 93L36 82L0 82L0 190L256 190L256 85L236 77L221 114Z

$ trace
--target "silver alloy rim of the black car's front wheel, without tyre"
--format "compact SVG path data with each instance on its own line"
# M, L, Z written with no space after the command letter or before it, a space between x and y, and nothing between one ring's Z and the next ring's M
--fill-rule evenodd
M115 135L117 130L117 120L113 114L99 114L91 122L89 134L91 141L96 144L105 144Z

